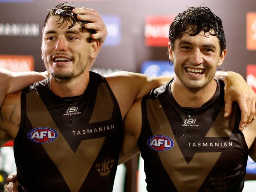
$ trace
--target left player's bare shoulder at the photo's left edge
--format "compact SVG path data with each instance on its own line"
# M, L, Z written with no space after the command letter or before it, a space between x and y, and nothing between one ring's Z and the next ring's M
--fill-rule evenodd
M4 134L4 137L8 137L9 135L10 138L14 139L19 131L21 114L20 95L21 92L7 94L2 104L0 110L0 129L7 133L7 135ZM3 137L2 133L0 133L0 135Z

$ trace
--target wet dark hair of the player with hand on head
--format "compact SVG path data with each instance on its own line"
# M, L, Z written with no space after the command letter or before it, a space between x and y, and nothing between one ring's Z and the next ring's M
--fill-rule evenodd
M82 27L82 29L85 29L84 24L86 24L86 21L81 21L78 20L77 18L77 14L72 13L72 10L76 8L75 6L72 6L72 3L68 3L68 2L62 2L59 3L58 5L54 6L54 8L50 9L45 21L44 21L44 26L43 29L45 28L49 18L53 15L58 15L59 16L59 20L57 22L59 22L61 20L61 18L63 18L63 20L61 22L59 22L59 27L63 26L65 27L66 21L70 21L71 25L69 26L69 29L74 27L74 25L76 24L76 22L78 22L80 24L80 26ZM58 27L58 28L59 28ZM88 30L89 33L95 33L94 30Z

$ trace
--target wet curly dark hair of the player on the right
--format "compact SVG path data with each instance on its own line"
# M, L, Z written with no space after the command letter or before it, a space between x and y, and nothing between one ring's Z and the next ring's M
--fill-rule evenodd
M191 30L187 31L190 28ZM186 33L195 36L201 31L210 33L210 35L216 36L219 39L220 54L226 49L226 39L221 18L204 6L189 7L174 18L169 28L169 41L171 42L172 49L174 49L176 39L182 38Z

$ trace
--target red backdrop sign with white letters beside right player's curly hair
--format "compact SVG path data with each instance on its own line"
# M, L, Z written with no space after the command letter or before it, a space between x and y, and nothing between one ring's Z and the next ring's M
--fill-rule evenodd
M147 16L145 22L145 44L147 46L167 47L169 26L175 16Z

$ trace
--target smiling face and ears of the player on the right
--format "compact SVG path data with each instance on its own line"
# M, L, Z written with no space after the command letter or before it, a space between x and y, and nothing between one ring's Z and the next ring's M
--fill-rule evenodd
M218 66L223 63L226 50L220 56L217 37L200 32L196 36L186 33L169 45L169 57L174 65L176 80L188 89L201 89L214 81Z

